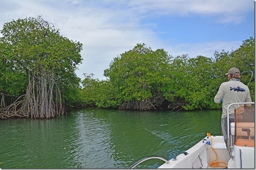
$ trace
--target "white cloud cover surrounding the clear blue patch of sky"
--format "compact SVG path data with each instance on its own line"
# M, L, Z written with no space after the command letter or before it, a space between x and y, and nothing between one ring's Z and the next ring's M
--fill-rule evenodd
M235 3L234 3L235 1ZM174 44L171 47L157 38L140 21L152 15L216 15L221 22L239 23L248 10L254 10L248 0L0 0L0 28L6 22L37 17L50 21L63 36L83 44L83 64L76 71L93 73L95 78L105 79L103 70L109 67L117 55L132 49L136 43L164 48L174 57L189 54L190 57L212 57L215 50L229 49L241 42L208 42ZM152 25L151 25L152 26Z

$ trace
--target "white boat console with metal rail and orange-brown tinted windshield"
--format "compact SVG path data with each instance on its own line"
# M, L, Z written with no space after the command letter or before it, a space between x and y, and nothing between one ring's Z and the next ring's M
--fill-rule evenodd
M245 105L246 104L246 105ZM253 104L253 105L251 105ZM255 109L254 102L251 103L233 103L227 108L235 106L235 122L231 123L231 136L234 136L233 146L230 144L228 132L228 150L231 156L228 168L255 168L254 167L254 125ZM229 120L229 116L227 117ZM229 124L229 123L228 123ZM234 153L234 154L232 154Z

